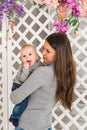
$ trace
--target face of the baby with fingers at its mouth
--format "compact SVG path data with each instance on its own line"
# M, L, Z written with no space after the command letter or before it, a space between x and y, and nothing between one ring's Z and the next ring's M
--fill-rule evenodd
M23 64L29 64L29 66L32 66L36 63L37 59L38 55L34 47L25 47L21 50L21 60Z

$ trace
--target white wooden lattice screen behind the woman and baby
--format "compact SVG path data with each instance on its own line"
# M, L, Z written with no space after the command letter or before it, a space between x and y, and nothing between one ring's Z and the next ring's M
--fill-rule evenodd
M23 2L23 0L21 1ZM13 130L8 122L12 110L10 91L20 61L20 49L24 44L32 43L37 47L42 59L41 51L44 38L55 31L53 21L55 12L46 7L38 9L28 1L24 5L24 15L16 19L15 35L6 41L6 18L0 32L0 130ZM50 15L49 15L50 14ZM74 59L77 66L77 84L75 88L75 102L72 111L65 110L58 103L52 112L53 130L87 130L87 19L80 20L81 35L69 29ZM11 34L12 35L12 34ZM68 97L69 98L69 97Z

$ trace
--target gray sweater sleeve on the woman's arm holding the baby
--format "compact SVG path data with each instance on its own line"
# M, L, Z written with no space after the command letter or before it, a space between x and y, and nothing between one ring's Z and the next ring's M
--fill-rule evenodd
M13 91L10 95L13 104L20 103L23 99L31 95L35 90L43 86L43 84L49 79L45 74L45 68L39 67L31 76L21 85L20 88ZM45 80L44 80L45 79Z

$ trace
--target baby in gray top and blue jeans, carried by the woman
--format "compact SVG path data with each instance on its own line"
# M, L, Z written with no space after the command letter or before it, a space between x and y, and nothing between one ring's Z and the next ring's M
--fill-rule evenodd
M38 60L38 54L36 52L36 48L27 44L21 49L21 61L22 65L20 65L17 76L13 82L12 91L19 88L22 83L32 74L34 70L36 70L42 63ZM21 103L14 106L12 114L9 118L9 121L17 127L19 119L27 107L29 97L24 99Z

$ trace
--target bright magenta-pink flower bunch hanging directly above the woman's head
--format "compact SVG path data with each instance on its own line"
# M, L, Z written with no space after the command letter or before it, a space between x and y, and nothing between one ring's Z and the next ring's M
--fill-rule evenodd
M55 20L54 27L56 31L66 33L68 30L68 23L66 21L60 22L59 20Z

